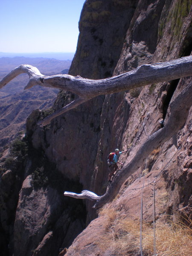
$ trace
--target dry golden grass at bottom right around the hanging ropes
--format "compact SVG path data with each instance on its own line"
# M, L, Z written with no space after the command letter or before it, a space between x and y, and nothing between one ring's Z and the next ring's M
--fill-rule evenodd
M105 213L104 213L105 212ZM132 256L140 253L140 222L129 218L120 219L114 209L105 209L110 227L100 238L99 247L109 255ZM192 224L192 223L191 223ZM154 238L151 224L143 224L143 255L154 255ZM156 224L156 248L158 256L192 255L192 228L183 223Z

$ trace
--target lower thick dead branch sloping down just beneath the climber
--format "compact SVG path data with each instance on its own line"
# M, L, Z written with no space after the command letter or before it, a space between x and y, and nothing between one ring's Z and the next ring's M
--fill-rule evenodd
M155 148L160 146L169 140L174 134L180 130L180 128L185 124L187 116L189 114L190 107L192 105L192 83L189 84L175 99L170 103L170 116L165 122L162 129L156 131L152 134L145 143L140 147L140 149L135 154L134 158L126 164L113 178L110 186L108 187L106 193L99 198L86 197L87 199L96 201L93 208L99 208L108 201L111 201L118 194L119 189L122 184L127 180L127 178L133 174L143 163L143 161L148 157L148 155ZM65 194L67 195L68 194ZM70 195L73 197L73 195ZM74 196L75 198L78 198Z

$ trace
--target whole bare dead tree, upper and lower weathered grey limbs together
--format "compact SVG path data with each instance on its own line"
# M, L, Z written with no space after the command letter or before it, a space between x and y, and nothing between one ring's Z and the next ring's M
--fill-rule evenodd
M20 73L28 73L29 75L29 83L26 85L25 89L30 88L35 84L39 84L41 86L56 87L62 90L71 91L79 96L78 99L39 122L41 126L44 126L55 116L59 116L96 96L117 93L152 83L191 76L192 56L162 63L142 65L128 73L101 80L84 79L81 78L81 76L74 77L70 75L44 76L35 67L30 65L20 65L0 81L0 88ZM133 159L123 166L117 173L104 195L98 196L87 190L82 191L81 194L64 192L64 195L81 199L87 198L95 201L94 208L99 208L108 201L111 201L119 192L119 189L125 180L140 167L143 160L148 157L151 151L169 140L173 135L177 134L186 122L191 104L192 83L188 84L187 87L170 103L170 116L166 120L164 127L156 131L145 141Z

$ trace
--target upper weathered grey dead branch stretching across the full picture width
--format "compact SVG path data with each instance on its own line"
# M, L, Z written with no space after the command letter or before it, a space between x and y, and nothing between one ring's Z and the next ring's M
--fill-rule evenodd
M79 96L78 99L71 102L69 105L52 113L45 120L39 122L39 125L44 126L55 116L61 115L96 96L117 93L148 84L191 76L192 56L161 63L141 65L135 70L131 70L119 76L100 80L84 79L81 76L74 77L70 75L44 76L36 67L23 64L12 70L0 81L0 88L21 73L27 73L29 75L29 83L26 85L25 89L38 84L45 87L67 90Z

